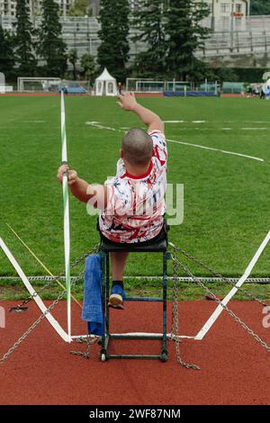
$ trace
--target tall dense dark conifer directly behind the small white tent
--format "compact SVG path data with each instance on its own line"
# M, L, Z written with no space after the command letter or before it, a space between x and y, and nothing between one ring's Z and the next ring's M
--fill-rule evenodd
M129 59L129 0L101 0L98 32L101 45L97 52L97 61L119 82L126 77L126 64Z

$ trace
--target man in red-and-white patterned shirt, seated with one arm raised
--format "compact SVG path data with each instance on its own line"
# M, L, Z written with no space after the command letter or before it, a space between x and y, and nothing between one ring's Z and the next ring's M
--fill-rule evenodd
M101 237L107 242L148 244L164 236L166 192L166 139L164 123L156 113L137 103L133 93L119 95L124 111L136 113L148 132L129 130L121 140L116 175L103 185L90 185L67 165L58 168L62 183L67 172L71 193L98 208ZM111 253L112 291L109 305L123 308L123 271L127 252Z

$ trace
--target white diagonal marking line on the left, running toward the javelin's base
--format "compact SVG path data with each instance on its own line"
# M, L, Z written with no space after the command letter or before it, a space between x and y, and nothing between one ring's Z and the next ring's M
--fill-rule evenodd
M19 263L14 258L13 254L9 250L9 248L4 244L4 240L0 238L0 247L3 249L5 256L9 259L10 263L14 266L14 269L16 270L17 274L20 276L20 278L23 281L24 286L27 288L29 293L31 295L34 294L33 300L36 302L37 306L40 308L40 311L44 314L48 309L45 306L44 302L42 302L40 295L38 295L33 287L31 286L29 280L27 279L26 275L23 272L22 267L19 265ZM65 342L70 342L72 339L68 337L65 330L58 324L58 321L54 319L54 317L48 312L46 314L46 319L49 321L50 325L58 332L58 335L64 339Z

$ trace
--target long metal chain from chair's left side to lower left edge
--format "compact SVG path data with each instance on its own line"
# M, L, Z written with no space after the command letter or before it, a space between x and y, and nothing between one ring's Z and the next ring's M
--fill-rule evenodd
M76 262L73 263L73 267L76 266L78 263L80 263L84 258L86 258L89 254L93 253L93 252L97 252L98 251L98 246L94 247L90 252L86 253L83 257L80 257L76 260ZM71 283L71 287L73 287L76 284L76 281L78 281L79 279L81 279L82 275L84 274L84 271L82 271L79 275L76 276L76 278L74 278L74 280ZM57 277L57 276L56 276ZM29 329L26 330L26 332L23 333L22 337L20 337L19 339L17 339L17 341L14 343L13 347L10 347L9 350L4 354L4 356L2 356L0 358L0 364L3 364L4 361L14 352L14 349L16 349L25 338L27 338L27 336L31 333L31 331L33 329L35 329L40 322L47 316L47 314L52 311L58 304L58 302L60 300L62 300L62 298L65 296L65 294L67 293L67 290L63 290L61 293L59 293L57 299L52 302L50 304L50 306L48 307L48 309L46 311L44 311L44 313L42 313L39 317L38 320L36 320Z

